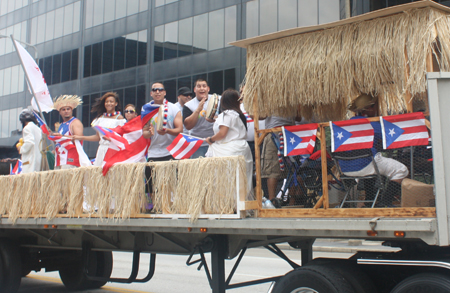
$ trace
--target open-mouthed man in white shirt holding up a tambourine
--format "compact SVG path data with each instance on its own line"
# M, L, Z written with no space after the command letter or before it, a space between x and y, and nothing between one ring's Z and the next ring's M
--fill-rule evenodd
M194 84L195 99L187 102L183 107L183 124L190 134L196 137L210 137L214 135L214 120L206 118L206 108L208 106L209 86L204 79L198 79ZM191 156L191 159L204 157L208 151L208 143L203 142L202 146Z

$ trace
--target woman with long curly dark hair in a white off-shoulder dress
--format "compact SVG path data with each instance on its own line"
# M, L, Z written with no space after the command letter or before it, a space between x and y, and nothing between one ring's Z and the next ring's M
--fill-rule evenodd
M97 117L92 121L91 126L114 128L122 126L127 122L120 113L120 100L117 93L107 92L100 99L97 99L92 106L91 112L97 113ZM108 140L100 138L98 133L91 136L74 135L73 139L99 141L94 166L102 166L103 159L105 158L109 146Z

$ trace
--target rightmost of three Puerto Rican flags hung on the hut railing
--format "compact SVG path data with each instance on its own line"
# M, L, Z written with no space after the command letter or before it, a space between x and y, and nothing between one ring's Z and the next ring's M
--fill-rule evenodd
M428 145L428 130L421 112L381 117L383 148Z

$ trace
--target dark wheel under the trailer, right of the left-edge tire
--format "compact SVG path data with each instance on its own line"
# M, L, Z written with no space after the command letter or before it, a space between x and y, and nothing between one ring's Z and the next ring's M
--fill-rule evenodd
M111 276L113 258L111 251L92 251L89 257L88 273L96 277L109 278ZM88 280L84 274L83 261L73 263L70 268L59 270L59 276L68 290L97 289L106 284L106 281Z

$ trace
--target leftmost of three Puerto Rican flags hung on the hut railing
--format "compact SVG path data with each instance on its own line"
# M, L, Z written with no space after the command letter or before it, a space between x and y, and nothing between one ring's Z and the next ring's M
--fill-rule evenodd
M317 123L283 126L284 156L310 155L316 145Z

